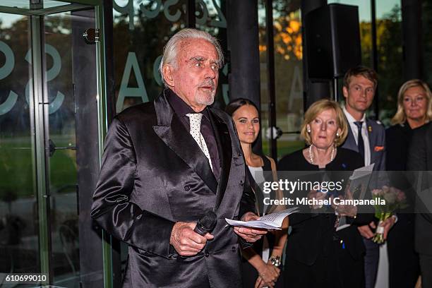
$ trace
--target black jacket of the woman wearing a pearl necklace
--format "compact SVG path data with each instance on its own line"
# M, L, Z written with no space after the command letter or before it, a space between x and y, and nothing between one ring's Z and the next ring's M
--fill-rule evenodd
M325 172L347 172L350 175L354 169L364 166L364 160L358 152L345 148L337 148L335 160L325 167ZM310 164L304 159L302 150L283 157L278 163L280 174L283 171L317 171L318 166ZM337 174L334 174L337 176ZM339 174L340 175L340 174ZM282 179L282 177L280 176ZM332 178L330 174L330 179ZM311 176L308 175L311 180ZM347 179L344 180L346 183ZM297 261L306 265L312 265L320 253L330 250L329 246L335 237L342 239L354 260L362 257L365 252L364 244L357 225L367 224L373 220L373 215L359 214L356 219L351 219L351 226L335 232L335 212L325 214L294 213L289 215L289 224L292 232L287 240L287 257L294 257Z

